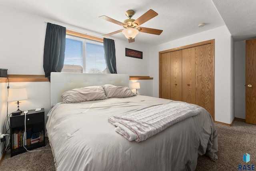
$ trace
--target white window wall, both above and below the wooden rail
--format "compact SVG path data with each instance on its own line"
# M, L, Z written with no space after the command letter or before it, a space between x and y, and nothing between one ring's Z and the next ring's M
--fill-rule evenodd
M58 24L68 30L89 35L101 36L89 30L77 28L69 24L50 20L29 14L19 10L13 10L0 6L0 68L7 68L8 74L44 75L43 54L46 22ZM111 39L111 37L109 37ZM113 38L112 38L113 39ZM118 74L130 74L130 76L149 75L148 47L136 42L128 43L128 40L115 40L116 66ZM125 56L125 48L143 52L143 59ZM147 84L141 80L141 89L144 95L152 95L152 80ZM138 81L140 82L140 81ZM148 86L149 85L149 86ZM3 118L6 116L7 84L0 84L0 131L2 132ZM50 83L49 82L23 82L10 83L10 87L26 87L28 100L20 103L20 109L45 108L45 115L50 110ZM8 111L16 111L16 104L10 103ZM2 144L1 144L2 145ZM0 150L3 147L1 146Z

